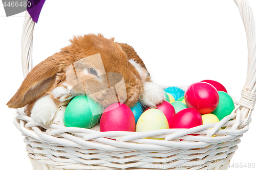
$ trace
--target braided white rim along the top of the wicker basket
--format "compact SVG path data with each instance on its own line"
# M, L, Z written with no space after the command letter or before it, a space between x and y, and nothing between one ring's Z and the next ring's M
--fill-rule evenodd
M226 119L230 119L230 117L236 116L235 113L226 116ZM246 122L246 119L242 119L242 123ZM103 140L104 142L124 142L124 143L143 143L146 144L159 144L159 145L172 145L172 147L182 147L182 148L202 148L206 147L212 143L218 143L222 141L228 141L235 138L241 137L245 132L248 131L249 125L244 126L243 128L233 128L231 127L236 123L236 120L230 120L219 123L212 123L201 125L198 127L190 128L190 129L162 129L150 132L123 132L123 131L111 131L111 132L99 132L91 129L84 128L75 128L75 127L65 127L61 125L52 124L50 126L41 125L38 122L35 122L33 118L25 115L23 109L17 109L17 112L14 116L14 124L15 126L22 131L24 134L33 136L42 141L55 141L58 136L63 134L74 134L79 138L82 138L83 141L94 141L96 139ZM220 127L227 126L229 129L220 129ZM47 129L46 132L42 132L38 127L42 127ZM212 129L217 127L218 130L213 135L217 135L215 137L207 136L207 133L211 132ZM32 128L31 130L29 130ZM34 133L33 131L36 132ZM32 132L30 132L32 131ZM200 134L197 136L189 135L189 134ZM46 137L50 136L50 138ZM160 137L165 138L164 140L157 139L144 139L144 137ZM116 141L113 141L115 139ZM187 141L194 142L182 142L178 139L183 139ZM61 142L61 141L60 141Z

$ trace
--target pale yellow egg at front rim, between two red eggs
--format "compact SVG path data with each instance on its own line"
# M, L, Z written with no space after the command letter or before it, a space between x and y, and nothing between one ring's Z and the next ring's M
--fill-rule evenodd
M163 112L158 109L148 109L138 119L136 132L148 132L169 129L168 121Z

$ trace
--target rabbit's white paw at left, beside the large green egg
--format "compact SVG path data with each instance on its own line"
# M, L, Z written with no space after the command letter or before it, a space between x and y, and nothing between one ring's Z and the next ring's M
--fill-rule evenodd
M51 125L58 108L50 97L46 95L35 102L31 110L31 117L43 125Z

